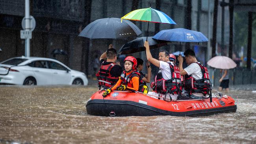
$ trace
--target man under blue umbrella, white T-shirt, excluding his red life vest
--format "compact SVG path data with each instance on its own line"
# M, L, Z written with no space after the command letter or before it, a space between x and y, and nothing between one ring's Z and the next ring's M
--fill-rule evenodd
M192 76L196 80L202 79L201 68L197 63L195 63L195 62L198 62L197 58L195 57L195 52L191 49L188 49L184 52L184 55L185 55L186 63L189 66L187 66L186 68L183 69L183 67L182 67L183 57L181 55L179 55L178 61L179 61L180 74L182 76L184 76L184 75ZM184 97L183 94L182 94L182 96ZM192 98L189 98L189 99L194 99L195 97L196 98L199 97L198 99L200 99L200 97L202 97L202 96L204 96L202 93L192 93L190 96Z

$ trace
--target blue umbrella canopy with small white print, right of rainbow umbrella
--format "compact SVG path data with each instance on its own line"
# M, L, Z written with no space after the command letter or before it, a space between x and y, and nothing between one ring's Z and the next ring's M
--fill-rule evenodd
M187 30L184 28L175 28L161 30L153 37L154 39L177 42L206 42L207 37L201 32Z

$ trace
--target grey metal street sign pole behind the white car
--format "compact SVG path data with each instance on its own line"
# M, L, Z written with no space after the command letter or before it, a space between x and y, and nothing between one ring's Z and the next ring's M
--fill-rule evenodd
M30 31L29 0L25 0L25 31ZM25 56L30 57L30 39L25 39Z

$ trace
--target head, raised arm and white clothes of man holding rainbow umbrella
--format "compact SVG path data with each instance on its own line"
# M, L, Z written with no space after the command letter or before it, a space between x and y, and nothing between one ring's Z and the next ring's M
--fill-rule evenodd
M146 54L147 54L147 60L152 63L153 65L157 66L158 68L160 68L159 72L161 72L161 76L163 79L171 79L172 78L172 73L171 73L171 69L170 69L170 65L169 63L173 65L173 62L171 62L169 60L169 52L167 52L166 50L162 50L159 52L159 55L158 55L158 59L155 59L152 57L151 53L150 53L150 50L149 50L149 44L147 41L145 41L144 43L144 46L146 48ZM159 93L156 93L156 92L148 92L148 94L151 94L151 95L155 95L155 96L160 96L160 97L163 97L165 96L165 94L159 94ZM168 96L166 96L166 99L168 101L168 99L170 100L170 97L172 98L172 100L176 100L178 94L169 94L167 93ZM163 99L163 98L161 98Z

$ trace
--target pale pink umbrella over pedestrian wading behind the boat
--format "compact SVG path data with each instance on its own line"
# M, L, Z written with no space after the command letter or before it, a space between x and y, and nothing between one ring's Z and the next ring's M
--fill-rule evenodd
M213 67L213 68L218 68L218 69L231 69L236 67L236 63L230 59L229 57L226 56L216 56L211 58L208 62L207 65Z

